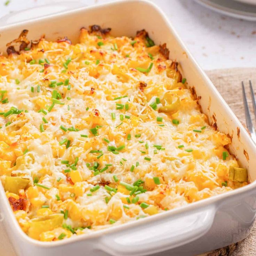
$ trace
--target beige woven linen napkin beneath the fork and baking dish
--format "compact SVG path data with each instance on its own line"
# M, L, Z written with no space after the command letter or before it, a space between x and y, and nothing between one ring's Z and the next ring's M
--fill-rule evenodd
M226 69L226 70L211 70L206 72L213 81L214 85L221 93L227 104L231 107L233 112L237 115L239 120L245 125L245 114L243 110L243 99L241 90L241 81L245 82L249 104L251 106L251 99L249 96L249 79L255 85L256 92L256 68L248 69ZM251 113L253 109L251 106ZM255 122L255 119L254 119ZM0 248L1 255L3 256L15 256L13 247L11 246L8 237L3 230L3 226L0 223ZM203 254L204 256L256 256L256 224L251 231L249 237L245 240L215 250L210 253Z

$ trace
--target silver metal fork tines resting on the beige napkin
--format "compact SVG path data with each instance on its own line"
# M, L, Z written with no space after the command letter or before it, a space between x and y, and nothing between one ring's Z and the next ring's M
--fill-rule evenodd
M253 101L253 112L254 112L254 115L256 118L256 102L255 102L255 97L254 97L253 86L251 84L251 80L249 81L249 84L250 84L251 99ZM245 86L243 85L243 82L242 82L242 91L243 91L243 105L245 106L246 125L251 134L251 138L253 139L254 143L256 143L256 132L255 132L255 129L253 126L253 122L251 121L250 110L249 110L249 106L247 103L246 94L245 94Z

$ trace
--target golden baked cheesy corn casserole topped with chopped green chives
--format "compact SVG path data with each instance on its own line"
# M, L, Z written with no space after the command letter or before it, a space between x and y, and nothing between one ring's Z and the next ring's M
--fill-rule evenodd
M0 175L29 179L6 194L30 237L66 239L247 184L228 179L230 138L148 43L145 31L82 29L76 45L41 39L0 56Z

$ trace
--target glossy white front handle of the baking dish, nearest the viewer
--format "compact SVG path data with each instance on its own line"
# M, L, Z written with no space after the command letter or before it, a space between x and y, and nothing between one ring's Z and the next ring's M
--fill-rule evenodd
M202 237L213 224L215 213L215 206L210 205L153 222L144 219L144 224L104 235L98 247L113 256L142 256L176 248Z

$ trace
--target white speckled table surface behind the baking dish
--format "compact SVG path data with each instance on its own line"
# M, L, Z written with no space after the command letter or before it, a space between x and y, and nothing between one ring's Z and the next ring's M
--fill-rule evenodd
M0 18L10 12L27 8L68 2L67 0L0 0ZM97 5L110 0L69 1ZM205 70L255 67L256 22L227 17L208 10L193 0L152 0L167 14L195 59ZM15 256L13 247L0 223L2 256ZM2 254L3 253L3 254Z

